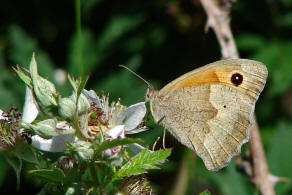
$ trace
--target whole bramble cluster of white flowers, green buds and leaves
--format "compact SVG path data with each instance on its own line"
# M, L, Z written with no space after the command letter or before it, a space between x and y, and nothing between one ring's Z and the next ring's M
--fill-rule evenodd
M87 78L72 76L68 76L72 94L63 97L53 83L38 74L35 55L29 70L17 66L15 71L26 84L23 114L15 109L0 110L0 149L11 150L17 162L35 164L38 168L30 174L48 182L45 191L52 192L57 185L67 194L101 194L115 182L124 186L112 187L114 191L123 191L134 182L135 191L152 193L146 177L139 175L158 168L170 150L150 151L141 139L127 137L147 130L145 102L129 107L120 100L110 104L109 95L98 96L84 89ZM49 159L47 153L61 156L40 163L40 158ZM19 180L19 174L17 177Z

